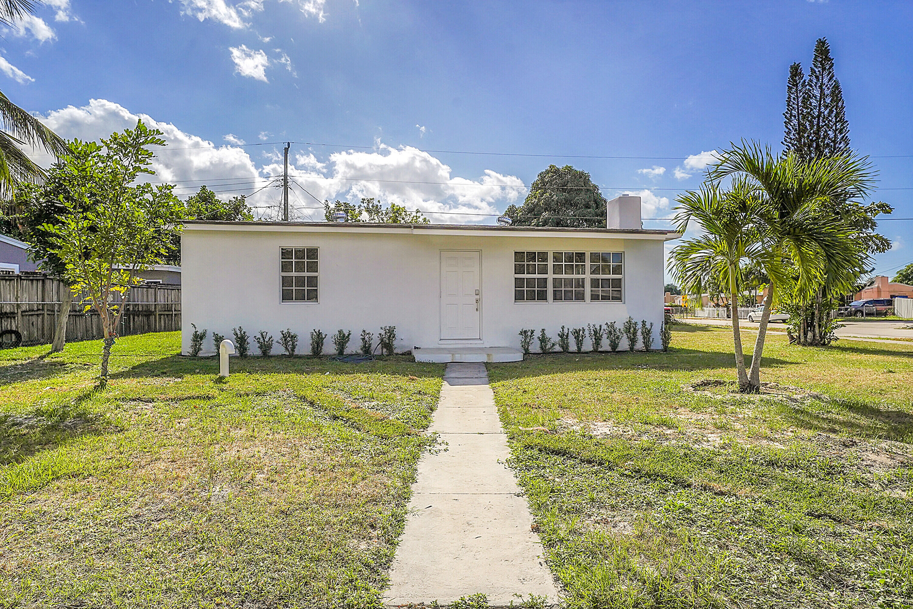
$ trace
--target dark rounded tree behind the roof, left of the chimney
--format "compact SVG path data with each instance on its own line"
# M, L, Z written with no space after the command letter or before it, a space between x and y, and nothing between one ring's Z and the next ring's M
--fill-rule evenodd
M523 205L510 205L504 215L515 226L605 228L605 204L589 173L549 165L530 185Z

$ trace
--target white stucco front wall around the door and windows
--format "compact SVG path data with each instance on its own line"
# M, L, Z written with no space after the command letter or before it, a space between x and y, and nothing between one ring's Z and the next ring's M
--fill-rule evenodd
M231 338L243 326L253 337L265 330L299 334L308 352L310 331L328 335L351 330L350 351L362 329L376 335L396 326L396 350L456 344L439 341L440 252L481 251L481 341L460 344L519 346L521 328L545 328L553 338L561 325L635 320L655 324L655 345L663 318L663 241L605 237L450 236L185 230L182 237L184 352L191 323ZM280 301L279 248L320 247L320 302ZM624 251L624 302L515 303L515 250ZM251 339L252 352L256 345ZM325 350L331 351L328 338ZM274 352L280 352L276 346Z

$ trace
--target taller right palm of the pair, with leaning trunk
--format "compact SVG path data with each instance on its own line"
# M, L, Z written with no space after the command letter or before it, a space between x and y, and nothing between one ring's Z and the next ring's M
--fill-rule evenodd
M871 260L866 243L840 216L835 202L864 199L875 173L865 157L844 154L803 162L793 152L774 155L769 146L742 142L723 152L708 172L719 184L730 179L755 201L752 226L762 237L764 256L755 258L771 278L761 327L751 357L750 389L761 385L761 355L778 289L789 281L800 299L811 301L819 286L851 289Z

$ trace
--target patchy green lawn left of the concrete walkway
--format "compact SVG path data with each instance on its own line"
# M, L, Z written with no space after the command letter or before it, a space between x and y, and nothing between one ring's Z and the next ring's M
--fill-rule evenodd
M0 606L364 607L442 366L186 358L177 333L0 352Z

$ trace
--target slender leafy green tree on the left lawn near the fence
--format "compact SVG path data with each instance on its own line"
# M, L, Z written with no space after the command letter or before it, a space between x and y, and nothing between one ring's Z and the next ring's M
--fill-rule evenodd
M100 145L70 142L55 168L66 195L57 222L44 226L48 252L63 263L73 289L88 294L85 310L100 315L102 385L128 291L142 281L137 273L163 262L182 217L173 184L136 184L141 174L154 174L149 147L166 145L161 135L138 121Z

